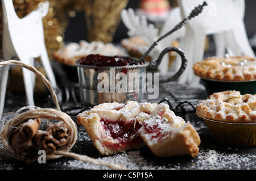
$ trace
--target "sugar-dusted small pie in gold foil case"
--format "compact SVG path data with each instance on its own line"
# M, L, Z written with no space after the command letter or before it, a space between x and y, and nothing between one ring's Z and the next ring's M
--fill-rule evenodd
M256 145L256 95L216 92L197 103L196 113L214 140L233 146Z

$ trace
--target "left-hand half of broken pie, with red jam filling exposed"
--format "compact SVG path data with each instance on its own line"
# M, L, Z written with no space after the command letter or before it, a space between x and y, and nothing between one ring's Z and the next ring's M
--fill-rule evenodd
M101 154L110 155L144 146L139 137L140 121L147 119L148 113L141 110L137 102L103 103L77 116L83 124L93 144Z

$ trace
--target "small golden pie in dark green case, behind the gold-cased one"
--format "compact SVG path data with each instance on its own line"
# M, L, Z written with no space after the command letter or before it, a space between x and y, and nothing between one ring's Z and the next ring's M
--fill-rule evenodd
M256 58L209 57L193 65L193 71L209 95L226 90L256 94Z

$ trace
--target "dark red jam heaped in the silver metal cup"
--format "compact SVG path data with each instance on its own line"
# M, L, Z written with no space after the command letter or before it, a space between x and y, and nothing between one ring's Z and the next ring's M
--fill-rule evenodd
M82 57L77 62L80 65L92 65L92 66L131 66L144 64L143 61L136 61L128 57L120 56L102 56L100 54L89 54L86 57Z

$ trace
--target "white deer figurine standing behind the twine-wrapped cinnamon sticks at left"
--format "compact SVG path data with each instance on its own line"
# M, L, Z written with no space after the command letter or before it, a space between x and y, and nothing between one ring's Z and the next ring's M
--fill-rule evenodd
M46 44L44 43L44 29L42 18L47 15L49 2L41 3L38 9L30 12L24 18L16 15L13 1L2 0L3 9L3 59L11 60L18 57L26 64L34 65L34 58L40 57L53 88L56 88L55 76L49 62ZM22 69L24 87L29 106L34 106L35 75ZM2 70L0 92L0 114L3 113L9 66Z

